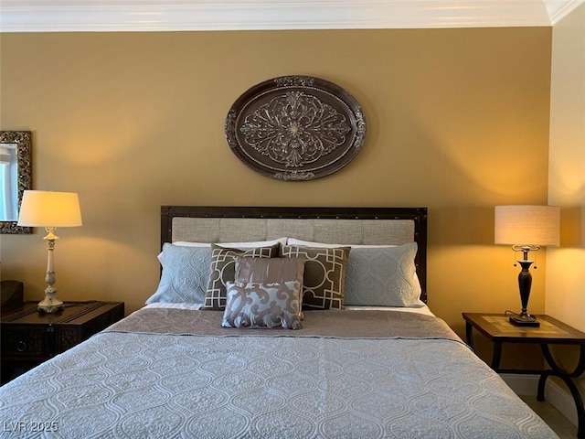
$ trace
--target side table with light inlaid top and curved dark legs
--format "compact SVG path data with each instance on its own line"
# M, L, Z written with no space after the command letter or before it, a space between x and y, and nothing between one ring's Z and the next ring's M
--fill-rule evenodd
M549 376L563 380L577 407L578 433L577 437L585 438L585 408L579 389L573 379L585 372L585 333L569 327L551 316L537 316L540 327L516 327L503 314L463 313L465 320L465 336L467 344L473 349L473 328L484 334L494 343L492 369L497 372L520 372L540 375L538 380L537 400L545 400L545 384ZM503 343L538 343L547 359L550 369L546 370L516 370L500 369ZM572 371L561 369L550 354L549 345L576 345L580 348L579 362Z

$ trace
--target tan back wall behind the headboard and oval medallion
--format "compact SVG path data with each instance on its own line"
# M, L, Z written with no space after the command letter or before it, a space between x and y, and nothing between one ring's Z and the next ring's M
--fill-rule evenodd
M493 207L547 202L550 46L546 27L3 34L0 122L33 131L35 188L80 193L83 227L59 230L55 252L63 299L143 305L162 204L427 206L429 304L461 333L462 311L519 308ZM286 74L364 108L366 145L330 177L261 177L226 144L231 103ZM2 277L28 299L44 288L42 236L2 236Z

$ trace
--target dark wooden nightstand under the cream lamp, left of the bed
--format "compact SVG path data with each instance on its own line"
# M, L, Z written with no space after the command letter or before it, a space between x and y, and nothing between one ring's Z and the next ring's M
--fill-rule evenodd
M0 315L2 383L16 368L31 369L109 327L124 316L123 302L65 302L46 314L25 302Z

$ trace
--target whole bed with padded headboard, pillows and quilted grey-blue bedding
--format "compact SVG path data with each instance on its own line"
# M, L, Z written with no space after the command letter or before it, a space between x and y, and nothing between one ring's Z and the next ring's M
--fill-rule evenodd
M163 206L161 244L144 308L0 388L1 437L557 437L426 305L427 209Z

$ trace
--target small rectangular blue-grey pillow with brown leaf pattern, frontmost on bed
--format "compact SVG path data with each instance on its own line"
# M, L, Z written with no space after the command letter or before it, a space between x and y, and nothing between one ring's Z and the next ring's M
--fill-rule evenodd
M222 327L283 327L300 329L298 281L283 284L234 284L228 282L228 302Z

